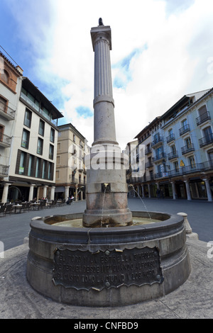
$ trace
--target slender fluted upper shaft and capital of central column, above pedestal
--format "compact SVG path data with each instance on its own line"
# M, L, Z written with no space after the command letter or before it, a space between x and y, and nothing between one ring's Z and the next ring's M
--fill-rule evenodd
M94 50L94 142L92 145L116 142L114 99L111 83L111 29L99 26L91 30Z

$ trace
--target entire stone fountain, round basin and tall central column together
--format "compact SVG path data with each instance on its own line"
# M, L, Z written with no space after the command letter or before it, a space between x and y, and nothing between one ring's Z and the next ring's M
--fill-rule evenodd
M111 28L99 19L91 37L94 142L85 159L87 208L83 214L31 222L26 276L35 290L58 302L130 305L182 285L190 258L182 216L128 208L127 160L116 142L114 122ZM146 223L133 224L135 218Z

